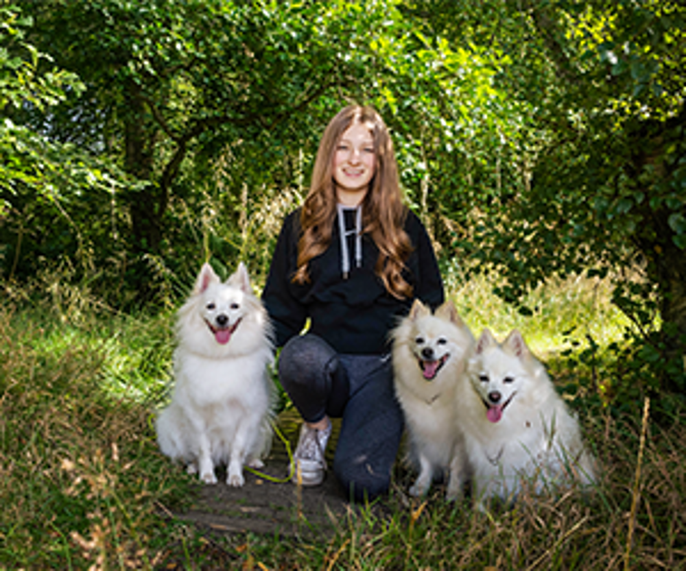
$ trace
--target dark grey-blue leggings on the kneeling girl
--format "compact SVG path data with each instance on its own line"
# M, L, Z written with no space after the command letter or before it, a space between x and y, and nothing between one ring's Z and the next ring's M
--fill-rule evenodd
M338 354L321 337L292 337L279 380L307 422L342 417L333 473L353 501L385 494L403 433L389 356Z

